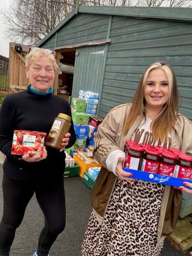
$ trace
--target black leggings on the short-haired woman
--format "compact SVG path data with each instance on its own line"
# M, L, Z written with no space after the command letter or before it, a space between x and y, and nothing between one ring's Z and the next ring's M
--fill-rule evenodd
M0 223L0 256L9 255L15 230L22 222L34 193L45 216L45 226L38 239L38 256L48 255L52 243L65 228L65 192L62 177L46 184L35 184L13 180L3 175L4 205Z

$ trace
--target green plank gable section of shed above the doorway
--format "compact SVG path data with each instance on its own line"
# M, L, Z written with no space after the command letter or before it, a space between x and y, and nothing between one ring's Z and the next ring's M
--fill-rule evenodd
M79 13L61 27L41 47L52 49L77 43L106 39L108 15Z

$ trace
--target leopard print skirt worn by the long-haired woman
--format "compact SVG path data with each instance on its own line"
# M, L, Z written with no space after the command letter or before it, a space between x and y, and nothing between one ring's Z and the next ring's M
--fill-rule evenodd
M164 186L118 179L102 225L92 212L81 256L160 256L157 224Z

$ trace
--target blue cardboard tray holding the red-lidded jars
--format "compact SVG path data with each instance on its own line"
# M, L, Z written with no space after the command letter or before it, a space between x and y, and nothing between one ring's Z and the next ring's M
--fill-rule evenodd
M184 186L182 183L185 181L192 183L192 180L179 179L175 177L164 176L157 173L136 171L128 168L124 168L124 171L132 173L133 176L131 178L133 179L146 180L146 181L160 183L168 186L174 186L174 187L183 186L183 187L189 188L188 186Z

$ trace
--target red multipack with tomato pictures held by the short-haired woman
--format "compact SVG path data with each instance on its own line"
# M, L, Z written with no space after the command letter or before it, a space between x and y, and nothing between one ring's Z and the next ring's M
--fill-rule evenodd
M12 154L35 156L38 148L44 147L46 133L15 130L13 133Z

